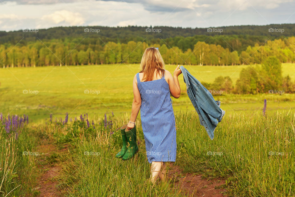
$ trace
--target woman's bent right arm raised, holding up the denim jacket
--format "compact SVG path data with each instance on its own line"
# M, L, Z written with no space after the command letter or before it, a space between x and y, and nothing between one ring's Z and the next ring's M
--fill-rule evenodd
M173 78L169 71L166 72L168 76L168 84L170 93L174 98L179 98L180 96L180 86L178 81L178 75L181 74L181 70L179 69L179 65L175 68L173 72Z

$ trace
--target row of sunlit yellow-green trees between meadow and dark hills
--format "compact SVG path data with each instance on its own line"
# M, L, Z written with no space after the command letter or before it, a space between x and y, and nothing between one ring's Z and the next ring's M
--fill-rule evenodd
M177 46L129 41L100 44L79 43L77 39L35 41L26 46L0 45L0 65L3 67L66 66L115 63L140 63L144 50L159 47L166 64L188 65L240 65L259 64L268 56L276 56L280 62L295 62L295 37L268 40L264 45L256 43L241 52L230 51L221 45L198 41L193 49L185 51Z

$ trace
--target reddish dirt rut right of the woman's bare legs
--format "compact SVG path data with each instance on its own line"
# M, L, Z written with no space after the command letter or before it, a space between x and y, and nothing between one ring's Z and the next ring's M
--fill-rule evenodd
M192 173L183 173L181 169L174 165L170 164L167 178L175 180L175 187L180 188L180 192L188 196L202 196L202 197L222 197L227 196L223 195L222 192L226 191L225 189L218 189L218 187L225 183L225 180L222 179L213 179L207 181L206 179L202 180L202 175L194 175ZM215 189L215 187L217 189Z

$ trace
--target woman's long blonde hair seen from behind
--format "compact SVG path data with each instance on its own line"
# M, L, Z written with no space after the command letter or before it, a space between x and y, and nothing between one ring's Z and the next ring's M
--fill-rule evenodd
M140 73L144 72L144 77L142 81L151 81L154 77L155 68L157 73L161 76L160 71L162 71L162 76L165 72L165 64L163 58L155 47L149 47L144 51L140 62Z

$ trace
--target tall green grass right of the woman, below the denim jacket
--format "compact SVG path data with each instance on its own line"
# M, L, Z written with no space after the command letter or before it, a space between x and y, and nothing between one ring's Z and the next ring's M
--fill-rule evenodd
M234 196L295 195L295 111L227 113L211 141L195 114L177 120L179 164L227 179Z

